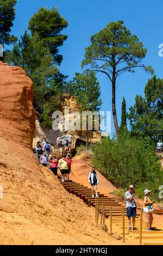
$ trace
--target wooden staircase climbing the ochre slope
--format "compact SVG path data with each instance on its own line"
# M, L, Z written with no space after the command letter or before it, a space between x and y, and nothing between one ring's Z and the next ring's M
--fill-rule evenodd
M61 175L58 175L58 179L61 182ZM95 207L96 198L92 198L91 188L88 188L82 184L74 182L72 180L61 183L62 186L69 192L84 200L85 203ZM112 208L112 225L120 230L122 234L122 205L116 200L104 196L104 194L98 192L99 197L99 213L102 212L102 203L105 205L105 218L110 216L110 208ZM124 209L126 213L126 209ZM137 213L136 227L140 228L140 213ZM128 219L125 217L125 231L129 235L133 236L135 244L139 244L140 230L128 230ZM142 245L163 245L163 230L147 231L146 223L142 223Z

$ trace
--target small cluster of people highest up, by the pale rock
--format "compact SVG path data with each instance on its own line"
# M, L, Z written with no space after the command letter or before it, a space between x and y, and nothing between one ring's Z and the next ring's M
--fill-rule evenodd
M62 154L62 148L65 148L65 151L68 149L71 150L71 144L72 144L72 135L67 133L66 136L59 135L57 138L57 146L59 148L60 153Z

